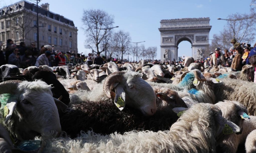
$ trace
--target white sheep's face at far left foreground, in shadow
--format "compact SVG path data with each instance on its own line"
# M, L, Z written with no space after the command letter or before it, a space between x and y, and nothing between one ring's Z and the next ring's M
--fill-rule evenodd
M58 136L61 132L51 87L42 81L19 83L6 107L9 113L4 124L19 140L33 139L38 134Z

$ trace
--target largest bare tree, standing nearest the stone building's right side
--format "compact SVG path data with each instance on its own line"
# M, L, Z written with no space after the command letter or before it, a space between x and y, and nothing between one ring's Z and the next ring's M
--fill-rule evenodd
M84 10L82 22L87 38L85 48L92 48L97 53L105 51L106 45L100 48L99 44L108 37L114 17L102 10Z

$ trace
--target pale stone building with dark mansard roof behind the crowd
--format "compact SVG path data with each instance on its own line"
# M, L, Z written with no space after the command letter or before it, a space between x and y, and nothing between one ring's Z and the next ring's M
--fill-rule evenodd
M24 41L37 44L39 27L39 47L54 45L54 50L75 51L77 53L77 27L74 22L49 11L49 4L38 6L39 25L36 20L36 4L20 1L0 9L0 41L12 39L17 45Z

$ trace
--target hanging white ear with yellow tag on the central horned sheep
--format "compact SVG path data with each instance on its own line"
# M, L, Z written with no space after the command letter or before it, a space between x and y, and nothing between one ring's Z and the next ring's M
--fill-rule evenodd
M117 85L115 87L115 93L116 93L116 97L115 97L114 103L115 103L116 107L120 111L122 111L125 106L125 91L124 91L123 87L121 87L120 85Z

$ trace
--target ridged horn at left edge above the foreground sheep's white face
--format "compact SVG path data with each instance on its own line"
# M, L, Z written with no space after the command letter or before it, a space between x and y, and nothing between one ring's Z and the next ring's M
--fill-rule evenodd
M21 82L20 80L8 80L0 83L0 94L14 92Z

